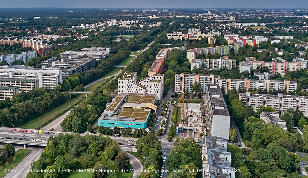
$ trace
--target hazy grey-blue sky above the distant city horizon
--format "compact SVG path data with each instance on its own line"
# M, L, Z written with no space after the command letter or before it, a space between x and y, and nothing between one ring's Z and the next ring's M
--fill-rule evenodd
M0 2L2 8L308 8L308 0L0 0Z

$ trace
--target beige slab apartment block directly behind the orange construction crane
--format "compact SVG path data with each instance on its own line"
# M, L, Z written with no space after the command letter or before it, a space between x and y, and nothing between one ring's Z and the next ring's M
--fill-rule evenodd
M206 92L206 84L217 83L219 75L199 75L199 74L176 74L174 76L174 92L182 93L185 90L188 93L193 93L193 84L199 82L200 92Z

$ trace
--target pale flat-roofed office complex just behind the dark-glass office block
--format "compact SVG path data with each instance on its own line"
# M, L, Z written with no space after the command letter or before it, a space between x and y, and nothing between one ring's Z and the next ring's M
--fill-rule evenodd
M61 58L68 58L69 56L73 57L89 57L95 58L97 61L102 58L106 58L111 54L110 48L105 47L91 47L83 48L79 51L64 51L60 54Z

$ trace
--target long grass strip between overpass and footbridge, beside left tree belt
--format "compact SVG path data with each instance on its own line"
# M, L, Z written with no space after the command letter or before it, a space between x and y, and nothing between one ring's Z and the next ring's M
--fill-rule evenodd
M72 98L71 100L65 102L61 106L56 107L55 109L43 114L40 116L41 118L41 126L43 127L44 123L47 123L50 119L53 119L56 115L59 113L63 113L63 111L66 111L67 109L71 108L73 105L80 102L80 100L84 99L86 97L86 94L80 94L76 96L75 98ZM28 123L25 123L24 125L20 126L21 128L39 128L39 118L36 118L34 120L31 120Z

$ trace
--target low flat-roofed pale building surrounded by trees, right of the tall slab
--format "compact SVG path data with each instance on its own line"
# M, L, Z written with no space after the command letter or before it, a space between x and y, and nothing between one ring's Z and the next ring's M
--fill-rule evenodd
M286 127L286 121L281 120L279 118L279 113L278 112L265 112L263 111L260 114L260 119L262 119L265 123L271 123L276 125L277 127L281 127L283 130L288 130Z

